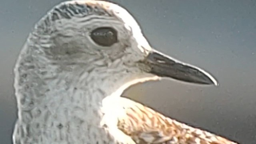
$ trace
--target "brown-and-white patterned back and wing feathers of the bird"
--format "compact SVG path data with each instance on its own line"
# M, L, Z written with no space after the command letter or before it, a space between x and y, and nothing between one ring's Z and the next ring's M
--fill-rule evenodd
M121 98L125 115L118 128L137 144L237 144L168 118L138 102Z

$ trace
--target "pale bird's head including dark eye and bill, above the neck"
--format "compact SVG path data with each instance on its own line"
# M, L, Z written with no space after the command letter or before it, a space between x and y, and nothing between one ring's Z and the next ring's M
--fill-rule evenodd
M34 62L60 71L79 73L108 67L197 84L218 84L201 68L152 48L133 16L106 1L63 2L38 22L28 41L33 42L25 44L21 55L28 57L23 59L33 59L32 54Z

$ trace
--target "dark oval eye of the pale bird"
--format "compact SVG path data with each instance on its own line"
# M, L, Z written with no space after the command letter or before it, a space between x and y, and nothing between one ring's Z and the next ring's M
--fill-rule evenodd
M100 46L112 46L117 42L117 32L110 27L96 28L90 36Z

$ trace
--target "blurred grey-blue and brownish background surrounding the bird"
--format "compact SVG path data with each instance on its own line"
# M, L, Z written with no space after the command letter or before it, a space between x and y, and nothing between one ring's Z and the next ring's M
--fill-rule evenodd
M16 120L12 69L34 24L63 0L0 4L0 143ZM179 121L241 144L256 141L256 0L112 0L140 23L150 44L212 73L220 86L166 79L125 92Z

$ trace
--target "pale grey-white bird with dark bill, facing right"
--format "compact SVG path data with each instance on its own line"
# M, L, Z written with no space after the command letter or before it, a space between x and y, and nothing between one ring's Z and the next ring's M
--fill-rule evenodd
M237 144L121 96L162 78L218 82L152 48L130 12L113 2L54 6L28 35L14 75L14 144Z

